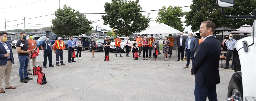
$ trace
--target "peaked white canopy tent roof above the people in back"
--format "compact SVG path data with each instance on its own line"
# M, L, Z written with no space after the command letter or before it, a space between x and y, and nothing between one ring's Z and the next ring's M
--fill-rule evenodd
M149 29L136 34L180 34L180 33L183 33L183 32L180 32L179 30L174 29L171 26L168 26L164 23L160 23L154 27L150 27Z

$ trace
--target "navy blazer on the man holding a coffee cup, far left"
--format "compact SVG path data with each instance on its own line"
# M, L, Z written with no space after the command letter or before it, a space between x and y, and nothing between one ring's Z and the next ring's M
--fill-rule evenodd
M11 53L10 53L11 58L10 59L11 59L12 63L14 64L14 58L13 58L11 44L8 43L8 42L6 42L6 44L9 48L9 50L11 51ZM1 61L0 65L6 65L6 63L7 63L7 58L8 57L4 57L4 54L6 54L6 53L7 53L6 49L4 48L3 44L0 42L0 61Z

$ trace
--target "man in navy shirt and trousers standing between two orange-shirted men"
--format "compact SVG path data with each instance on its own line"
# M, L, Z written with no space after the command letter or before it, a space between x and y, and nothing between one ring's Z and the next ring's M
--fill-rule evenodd
M42 42L41 44L41 49L44 52L44 68L47 68L46 64L47 64L47 57L48 57L48 61L49 61L49 67L54 67L52 65L52 43L51 41L49 41L49 36L46 36L45 40Z

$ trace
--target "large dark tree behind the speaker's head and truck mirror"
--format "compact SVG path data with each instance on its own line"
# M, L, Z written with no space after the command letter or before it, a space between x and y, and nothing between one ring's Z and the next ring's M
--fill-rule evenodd
M253 15L252 11L255 9L256 0L236 0L233 8L225 9L226 15ZM238 29L244 24L252 24L252 19L227 19L220 13L220 8L217 7L215 0L192 0L190 5L191 11L186 12L185 21L186 26L191 25L192 31L200 29L201 22L211 20L217 27L229 27Z

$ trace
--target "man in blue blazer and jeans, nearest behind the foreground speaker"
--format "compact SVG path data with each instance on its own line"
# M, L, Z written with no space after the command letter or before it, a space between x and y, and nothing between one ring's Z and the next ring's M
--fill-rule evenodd
M187 65L185 68L188 68L189 65L189 61L190 61L190 57L193 63L194 60L194 55L196 52L196 47L197 47L197 40L196 38L193 37L192 33L188 34L188 38L186 39L186 43L185 43L185 52L186 52L186 57L187 57Z

